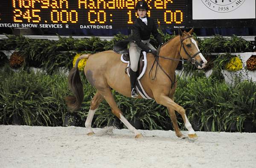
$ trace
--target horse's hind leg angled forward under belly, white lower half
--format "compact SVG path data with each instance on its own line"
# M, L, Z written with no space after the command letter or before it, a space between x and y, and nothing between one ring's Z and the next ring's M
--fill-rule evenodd
M143 137L139 131L137 131L136 128L134 128L134 126L132 126L126 119L125 117L122 115L121 110L117 107L116 102L114 100L113 94L111 93L110 88L106 88L104 89L104 91L100 91L102 96L104 96L105 100L108 102L109 106L111 107L112 113L116 115L116 117L119 118L119 120L121 120L124 125L131 131L134 133L135 138L141 138Z

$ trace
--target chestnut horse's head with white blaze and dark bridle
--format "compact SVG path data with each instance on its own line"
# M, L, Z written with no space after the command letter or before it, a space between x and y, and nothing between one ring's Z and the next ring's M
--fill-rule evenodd
M207 64L207 60L198 48L197 41L192 37L194 28L189 32L178 30L180 35L180 57L189 60L192 64L195 64L197 68L204 68Z

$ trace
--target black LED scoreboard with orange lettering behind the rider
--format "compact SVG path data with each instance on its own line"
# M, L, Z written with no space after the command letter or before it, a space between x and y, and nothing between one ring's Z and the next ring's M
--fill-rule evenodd
M0 27L127 28L138 0L0 0ZM186 25L186 0L146 0L161 27Z

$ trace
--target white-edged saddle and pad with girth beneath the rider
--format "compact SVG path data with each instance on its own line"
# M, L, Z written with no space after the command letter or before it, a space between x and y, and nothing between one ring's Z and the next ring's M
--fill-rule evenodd
M131 68L131 63L130 63L130 56L128 52L121 55L121 61L123 63L127 63L127 68L125 68L125 73L128 74L128 77L130 77L129 72ZM140 78L143 77L143 75L145 74L146 68L147 68L147 54L145 51L141 51L140 60L138 64L139 76L137 77L136 89L141 95L141 97L143 97L144 99L152 99L151 97L148 96L148 94L143 89L142 84L140 83Z

